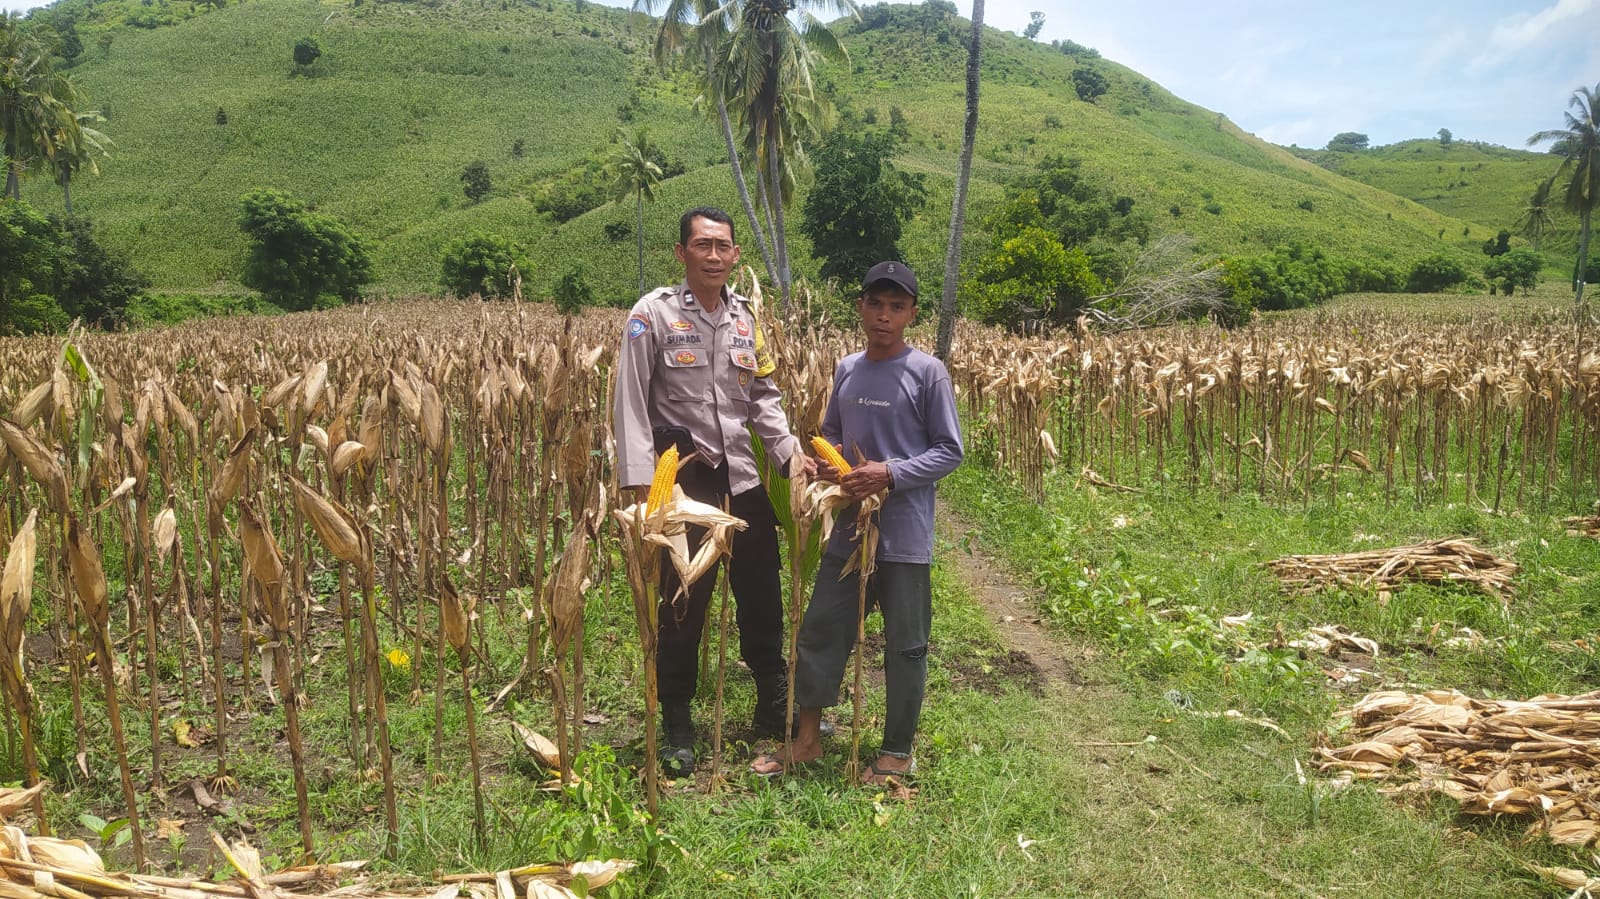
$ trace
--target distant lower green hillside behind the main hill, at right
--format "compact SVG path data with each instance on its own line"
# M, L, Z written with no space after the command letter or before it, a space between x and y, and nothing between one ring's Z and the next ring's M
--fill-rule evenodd
M1501 229L1517 234L1528 197L1560 165L1558 158L1544 152L1461 141L1446 147L1435 139L1402 141L1362 152L1299 154L1362 184L1474 222L1480 226L1474 230L1483 232L1483 237L1493 237ZM1565 226L1571 222L1557 222L1557 227Z

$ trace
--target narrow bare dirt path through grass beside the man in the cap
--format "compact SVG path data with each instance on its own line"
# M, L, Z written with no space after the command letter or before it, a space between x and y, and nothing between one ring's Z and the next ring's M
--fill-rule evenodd
M1032 590L978 545L978 541L966 539L973 525L949 504L939 504L938 533L954 544L954 550L944 553L944 561L989 613L1005 645L1038 670L1046 694L1078 693L1096 686L1082 673L1094 651L1046 630L1034 609Z

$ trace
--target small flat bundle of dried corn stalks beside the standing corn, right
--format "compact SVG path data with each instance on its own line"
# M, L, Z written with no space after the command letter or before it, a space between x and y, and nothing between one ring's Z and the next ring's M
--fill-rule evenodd
M1474 584L1486 593L1504 598L1517 574L1515 561L1499 558L1464 539L1424 541L1333 555L1288 555L1269 561L1267 568L1285 587L1299 593L1339 585L1389 590L1402 581L1422 581Z

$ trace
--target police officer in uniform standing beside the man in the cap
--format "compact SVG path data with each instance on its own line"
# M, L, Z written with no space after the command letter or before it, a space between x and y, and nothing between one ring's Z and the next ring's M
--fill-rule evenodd
M750 450L754 430L784 470L798 451L778 387L758 371L757 322L750 301L726 290L739 261L733 219L694 208L678 221L674 248L683 283L640 298L627 318L616 368L613 427L619 483L645 499L656 453L677 445L694 453L678 473L683 493L744 518L733 539L728 581L738 605L739 653L755 677L755 726L781 734L787 704L782 654L782 593L778 582L778 518L762 486ZM810 456L803 456L814 467ZM691 541L699 534L691 534ZM686 598L678 577L662 566L656 678L666 745L662 768L694 768L690 699L699 673L699 640L710 605L715 568Z

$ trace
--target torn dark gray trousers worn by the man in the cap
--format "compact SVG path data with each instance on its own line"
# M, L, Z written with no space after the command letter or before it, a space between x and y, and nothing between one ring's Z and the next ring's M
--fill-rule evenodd
M846 557L848 558L848 557ZM795 651L795 705L838 705L838 686L856 643L859 577L840 579L846 558L822 555L811 605ZM906 758L917 736L928 685L928 630L933 625L930 565L880 561L867 577L867 613L883 613L883 685L886 715L882 752Z

